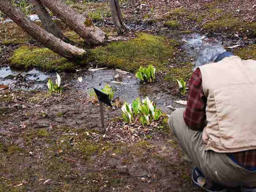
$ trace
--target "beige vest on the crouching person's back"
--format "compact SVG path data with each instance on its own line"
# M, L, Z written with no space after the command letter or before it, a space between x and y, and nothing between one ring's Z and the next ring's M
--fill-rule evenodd
M256 149L256 61L232 56L199 68L207 98L206 150Z

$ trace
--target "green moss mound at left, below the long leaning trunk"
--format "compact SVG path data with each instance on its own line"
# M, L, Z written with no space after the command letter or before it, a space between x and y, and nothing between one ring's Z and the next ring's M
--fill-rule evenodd
M48 71L74 71L76 64L47 48L22 46L15 50L10 66L17 69L41 68Z

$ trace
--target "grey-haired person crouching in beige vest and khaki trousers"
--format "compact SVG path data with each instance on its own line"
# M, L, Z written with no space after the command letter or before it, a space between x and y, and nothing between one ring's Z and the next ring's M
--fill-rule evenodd
M256 61L204 45L187 108L174 111L169 126L193 162L194 184L209 192L256 192Z

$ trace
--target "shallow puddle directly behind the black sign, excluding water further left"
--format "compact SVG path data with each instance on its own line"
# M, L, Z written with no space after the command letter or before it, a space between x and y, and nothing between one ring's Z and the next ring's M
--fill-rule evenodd
M115 78L117 74L119 77ZM71 80L71 87L82 93L90 93L93 87L101 89L109 83L114 91L114 98L120 97L128 103L137 97L144 99L146 96L157 102L159 106L170 105L172 102L168 93L158 90L159 87L153 84L141 84L134 74L121 74L115 70L100 70L88 71L82 75L82 78L81 83L77 80Z

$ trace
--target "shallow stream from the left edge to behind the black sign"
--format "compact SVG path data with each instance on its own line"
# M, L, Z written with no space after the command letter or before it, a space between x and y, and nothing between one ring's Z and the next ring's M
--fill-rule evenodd
M76 74L78 75L78 74ZM116 75L118 75L117 78ZM77 78L68 74L60 74L63 85L69 85L82 93L89 94L93 87L101 89L109 84L114 91L114 98L120 98L129 103L133 99L146 96L155 101L162 109L170 105L172 100L167 92L162 91L159 86L153 84L142 84L134 74L122 74L116 70L85 71L79 76L83 78L80 83ZM56 74L42 72L37 69L31 71L14 71L10 67L0 68L0 84L5 84L12 89L34 90L47 89L47 80L51 78L55 82Z

